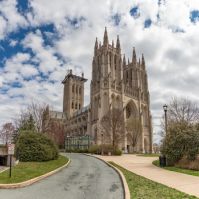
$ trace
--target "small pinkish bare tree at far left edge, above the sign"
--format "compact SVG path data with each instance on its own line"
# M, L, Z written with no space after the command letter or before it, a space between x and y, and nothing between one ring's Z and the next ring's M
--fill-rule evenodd
M4 144L12 142L13 135L15 133L15 127L12 123L5 123L0 130L0 138Z

